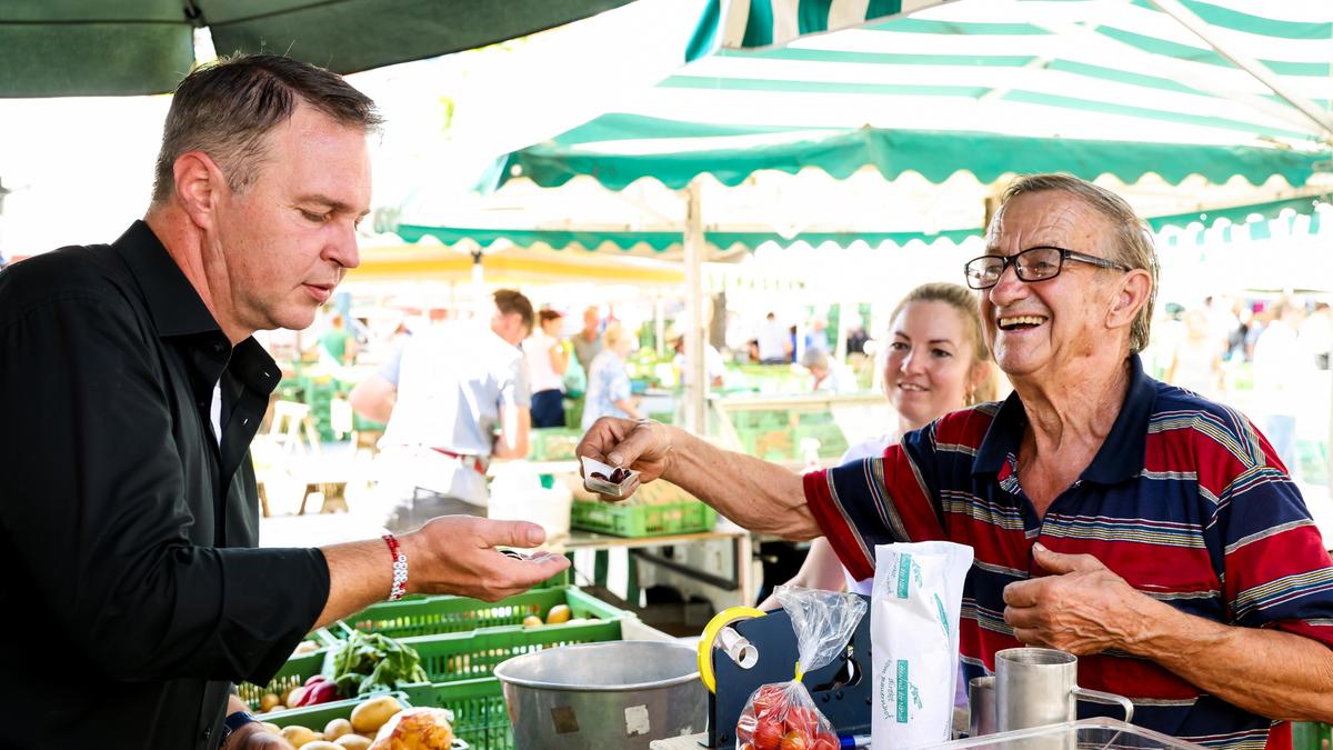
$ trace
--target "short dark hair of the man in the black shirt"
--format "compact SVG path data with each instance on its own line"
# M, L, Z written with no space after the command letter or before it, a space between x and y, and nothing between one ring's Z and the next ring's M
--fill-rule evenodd
M336 123L367 132L384 120L375 101L343 76L279 55L237 55L196 68L176 87L153 176L153 204L176 187L175 164L203 151L227 175L232 192L255 181L267 156L264 139L304 101Z

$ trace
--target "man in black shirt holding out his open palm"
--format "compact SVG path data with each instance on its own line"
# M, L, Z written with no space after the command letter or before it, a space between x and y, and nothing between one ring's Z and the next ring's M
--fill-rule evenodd
M207 65L172 101L144 220L0 272L4 747L288 747L229 689L312 627L568 565L495 550L540 543L536 524L464 516L255 548L248 451L279 371L251 334L309 326L360 263L379 123L320 68Z

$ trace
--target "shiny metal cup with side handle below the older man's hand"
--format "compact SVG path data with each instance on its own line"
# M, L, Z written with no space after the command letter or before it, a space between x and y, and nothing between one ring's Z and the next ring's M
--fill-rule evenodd
M1054 649L1005 649L996 653L996 727L1030 729L1074 721L1080 699L1120 706L1134 718L1128 698L1078 687L1078 658Z

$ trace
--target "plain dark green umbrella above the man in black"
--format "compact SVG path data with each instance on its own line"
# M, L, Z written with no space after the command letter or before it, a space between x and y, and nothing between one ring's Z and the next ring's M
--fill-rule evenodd
M448 55L631 0L5 0L0 97L173 91L201 32L217 53L269 51L351 73Z

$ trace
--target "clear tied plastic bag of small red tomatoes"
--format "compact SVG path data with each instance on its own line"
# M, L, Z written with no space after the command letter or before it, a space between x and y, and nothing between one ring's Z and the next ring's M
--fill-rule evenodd
M777 601L792 618L798 659L790 682L762 685L736 722L737 750L837 750L833 725L814 707L801 678L832 662L846 649L865 615L865 602L796 586L778 586Z

